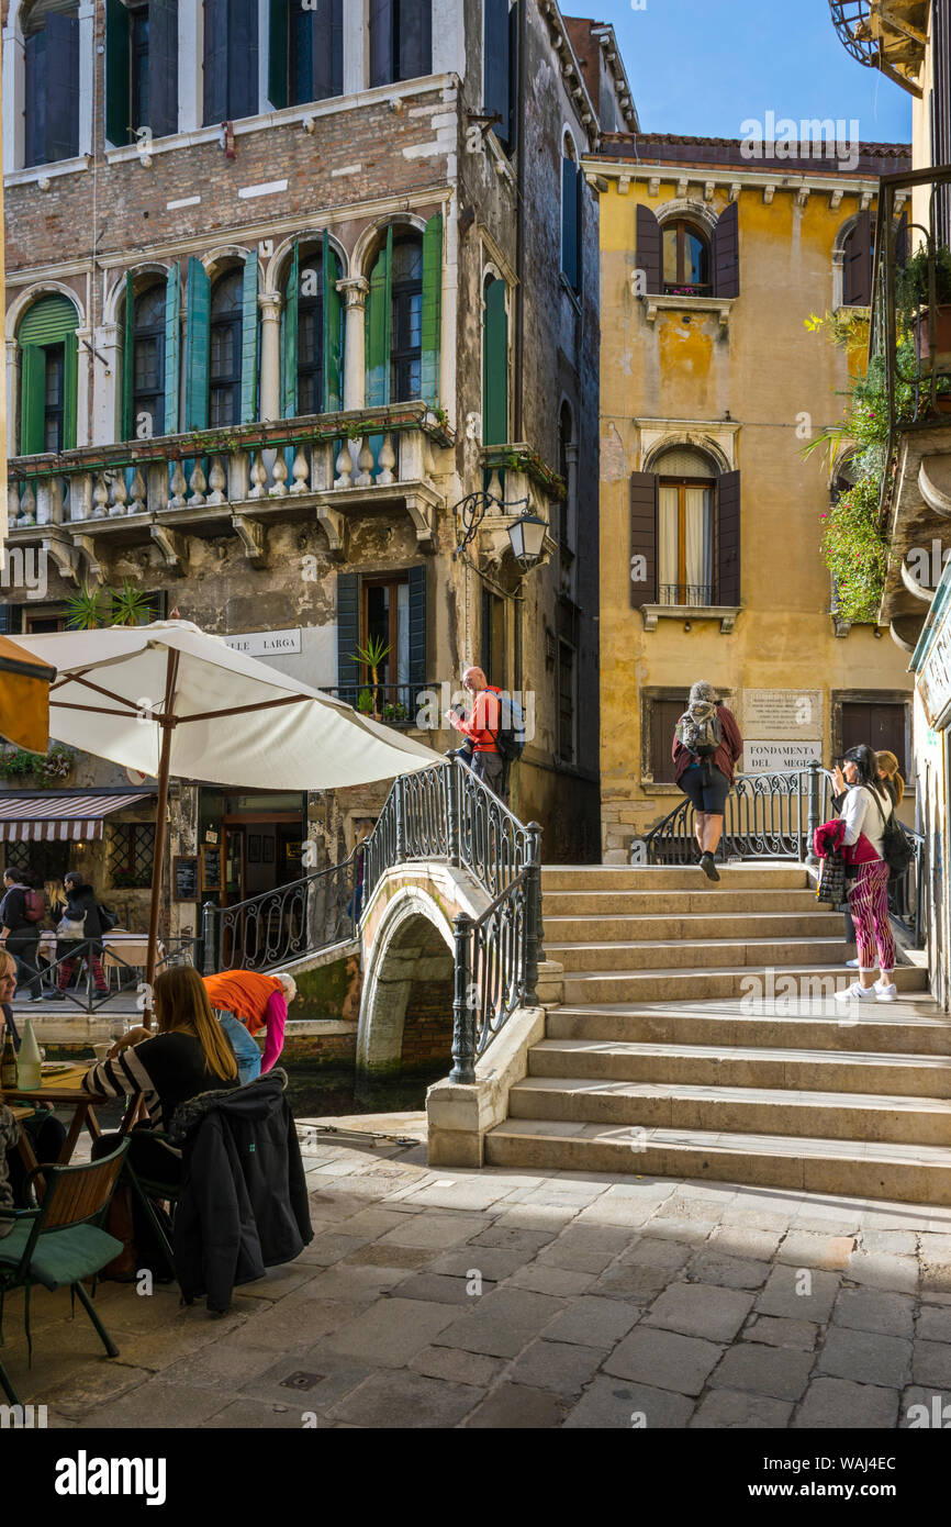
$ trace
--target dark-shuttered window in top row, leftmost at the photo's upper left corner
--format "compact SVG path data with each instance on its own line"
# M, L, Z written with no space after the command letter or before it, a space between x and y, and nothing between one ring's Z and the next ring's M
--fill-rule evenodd
M9 44L8 44L9 46ZM37 0L23 24L26 163L79 153L79 8Z

